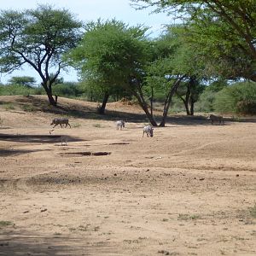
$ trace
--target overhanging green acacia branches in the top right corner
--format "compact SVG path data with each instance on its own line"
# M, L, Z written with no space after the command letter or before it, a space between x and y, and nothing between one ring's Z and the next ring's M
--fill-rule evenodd
M176 14L212 73L256 81L256 2L251 0L131 0L137 8ZM178 15L177 15L178 14ZM208 58L207 58L208 56Z

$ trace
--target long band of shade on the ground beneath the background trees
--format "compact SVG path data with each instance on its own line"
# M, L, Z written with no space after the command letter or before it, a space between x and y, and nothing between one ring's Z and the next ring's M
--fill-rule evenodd
M84 106L79 103L59 102L58 106L49 105L47 97L40 98L37 96L23 96L16 99L16 102L21 104L31 104L32 108L26 108L26 111L43 111L44 113L61 114L67 117L79 119L102 119L102 120L117 120L125 119L127 122L148 123L148 118L145 113L130 113L119 110L108 110L105 114L97 113L96 106ZM154 119L159 124L162 119L162 113L155 112ZM226 120L226 119L225 119ZM256 119L227 119L232 122L256 122ZM173 125L207 125L209 121L205 116L195 115L187 116L182 114L169 114L166 118L166 124Z

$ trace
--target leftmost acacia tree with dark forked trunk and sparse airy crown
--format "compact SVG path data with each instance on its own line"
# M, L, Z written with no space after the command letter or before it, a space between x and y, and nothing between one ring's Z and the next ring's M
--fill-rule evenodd
M12 73L24 65L42 79L49 103L56 106L52 85L67 67L63 55L79 42L82 23L67 9L39 5L22 12L3 10L0 14L1 73Z

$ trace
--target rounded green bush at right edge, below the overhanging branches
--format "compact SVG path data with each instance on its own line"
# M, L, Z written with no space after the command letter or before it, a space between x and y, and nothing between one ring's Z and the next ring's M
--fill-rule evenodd
M256 113L256 84L253 82L232 84L220 90L213 103L218 112Z

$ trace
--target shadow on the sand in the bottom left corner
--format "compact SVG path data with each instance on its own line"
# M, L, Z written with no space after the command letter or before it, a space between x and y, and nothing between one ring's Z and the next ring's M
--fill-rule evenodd
M89 236L88 236L89 237ZM0 236L0 255L94 255L99 253L113 253L115 248L105 243L92 245L93 241L83 237L70 235L41 235L27 230L3 231ZM112 251L112 252L111 252ZM110 255L110 254L109 254Z

